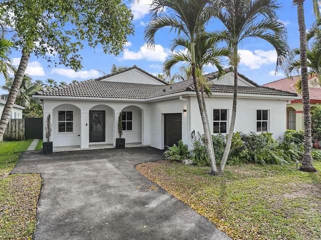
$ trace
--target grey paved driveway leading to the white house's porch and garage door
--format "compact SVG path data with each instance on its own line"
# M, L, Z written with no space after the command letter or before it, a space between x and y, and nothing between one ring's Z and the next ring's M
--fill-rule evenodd
M41 173L35 240L231 239L137 172L164 159L151 147L24 152L12 173Z

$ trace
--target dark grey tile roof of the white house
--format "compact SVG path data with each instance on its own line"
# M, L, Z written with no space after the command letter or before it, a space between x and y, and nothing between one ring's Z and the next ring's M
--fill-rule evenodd
M206 74L209 79L214 79L216 73ZM217 76L216 76L217 77ZM242 76L243 77L243 76ZM158 96L170 95L178 92L195 91L192 79L180 81L170 85L155 85L144 83L115 82L108 81L105 77L85 80L69 85L53 87L36 92L36 95L47 96L75 96L75 97L105 97L105 98L127 98L127 99L149 99ZM101 80L105 79L105 80ZM252 82L252 81L251 81ZM239 86L238 93L296 96L295 93L260 86ZM211 84L212 92L233 93L233 85Z

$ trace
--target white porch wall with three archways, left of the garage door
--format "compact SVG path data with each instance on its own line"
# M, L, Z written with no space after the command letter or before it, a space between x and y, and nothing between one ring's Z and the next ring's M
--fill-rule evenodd
M66 103L68 102L68 104ZM72 110L73 132L58 132L58 111ZM89 111L105 110L106 129L105 142L89 142ZM143 145L150 144L149 104L145 102L107 102L101 100L44 100L44 127L49 114L52 115L53 134L50 140L53 146L79 145L88 148L90 144L113 144L118 137L117 122L119 112L122 110L133 111L133 130L123 131L123 137L127 143L141 142ZM45 141L45 131L43 135Z

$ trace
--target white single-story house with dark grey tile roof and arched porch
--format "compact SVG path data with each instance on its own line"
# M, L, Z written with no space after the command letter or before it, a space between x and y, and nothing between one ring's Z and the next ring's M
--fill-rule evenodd
M205 75L213 92L212 97L206 97L213 133L228 132L233 74L227 69L220 80L216 73ZM242 74L238 79L235 131L269 131L274 138L283 136L286 101L297 95L259 86ZM115 146L120 112L126 143L164 149L183 139L191 148L204 133L193 80L168 84L137 66L38 91L33 97L43 103L44 126L48 114L52 115L54 146Z

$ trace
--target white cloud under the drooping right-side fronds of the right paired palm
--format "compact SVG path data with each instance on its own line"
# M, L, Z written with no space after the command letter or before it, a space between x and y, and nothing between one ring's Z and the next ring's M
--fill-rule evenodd
M241 57L240 64L250 67L250 69L258 69L262 65L275 64L277 53L275 50L239 50Z

